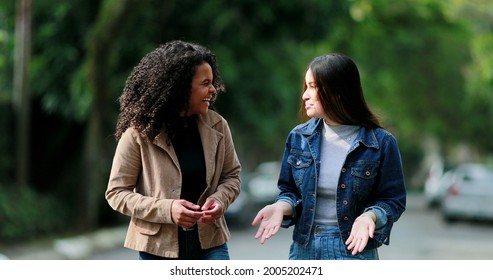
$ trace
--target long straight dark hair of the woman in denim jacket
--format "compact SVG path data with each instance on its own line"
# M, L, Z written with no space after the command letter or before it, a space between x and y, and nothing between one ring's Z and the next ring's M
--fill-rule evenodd
M345 125L381 127L365 101L358 68L349 57L338 53L317 56L308 69L313 73L318 97L331 120ZM303 108L302 102L302 118L307 119Z

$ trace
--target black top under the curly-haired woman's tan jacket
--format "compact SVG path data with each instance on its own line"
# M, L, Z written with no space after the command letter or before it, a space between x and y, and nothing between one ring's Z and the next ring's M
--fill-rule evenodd
M178 131L171 142L182 174L180 198L197 204L206 182L204 150L194 116L186 119L185 128Z

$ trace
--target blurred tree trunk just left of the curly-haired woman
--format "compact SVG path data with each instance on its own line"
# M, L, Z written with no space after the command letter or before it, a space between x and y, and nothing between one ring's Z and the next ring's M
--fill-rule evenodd
M84 144L84 180L80 186L79 227L92 229L97 226L99 205L104 196L108 178L104 165L104 122L113 106L113 95L107 84L110 79L111 53L113 44L133 0L105 1L88 38L86 75L92 93Z

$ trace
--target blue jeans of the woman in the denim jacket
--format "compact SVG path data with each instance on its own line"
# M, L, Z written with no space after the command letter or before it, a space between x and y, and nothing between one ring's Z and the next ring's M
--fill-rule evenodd
M295 241L289 249L290 260L378 260L377 249L355 256L344 245L337 226L315 226L305 247Z

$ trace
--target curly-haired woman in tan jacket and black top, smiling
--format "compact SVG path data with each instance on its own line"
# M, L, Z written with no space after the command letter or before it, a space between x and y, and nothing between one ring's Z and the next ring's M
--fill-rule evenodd
M171 41L147 54L119 99L118 141L105 193L130 216L124 246L139 259L229 259L224 212L240 192L215 55Z

